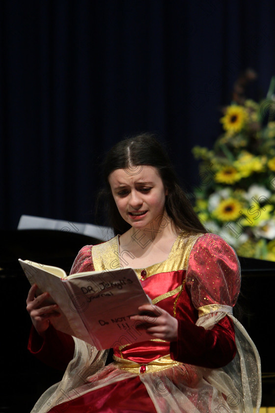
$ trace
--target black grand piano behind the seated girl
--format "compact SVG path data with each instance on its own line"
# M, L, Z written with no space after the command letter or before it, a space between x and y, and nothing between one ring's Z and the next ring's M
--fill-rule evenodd
M0 413L28 413L39 396L62 377L27 352L30 319L26 311L29 284L18 258L59 266L69 273L78 251L102 242L73 232L1 231ZM242 288L236 316L256 344L262 362L262 406L275 406L273 304L275 263L239 257Z

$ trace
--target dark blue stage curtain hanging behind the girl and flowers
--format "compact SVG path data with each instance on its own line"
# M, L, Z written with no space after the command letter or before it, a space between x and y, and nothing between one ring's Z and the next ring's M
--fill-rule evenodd
M150 131L188 191L239 73L275 75L275 2L0 1L0 227L94 222L103 154Z

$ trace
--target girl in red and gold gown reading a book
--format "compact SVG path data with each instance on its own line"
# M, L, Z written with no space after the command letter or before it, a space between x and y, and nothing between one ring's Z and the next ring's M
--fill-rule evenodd
M110 269L117 257L135 268L152 305L132 319L151 339L115 346L105 366L107 351L54 329L58 307L43 306L48 294L35 297L33 286L29 350L69 364L32 412L257 412L259 356L232 315L240 290L234 250L207 233L152 136L115 145L104 175L115 236L83 247L71 273Z

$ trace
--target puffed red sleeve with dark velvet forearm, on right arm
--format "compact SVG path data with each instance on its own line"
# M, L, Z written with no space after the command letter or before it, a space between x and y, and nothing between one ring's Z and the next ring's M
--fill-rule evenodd
M170 344L171 358L208 368L225 366L234 358L234 324L224 314L235 305L240 283L234 250L220 236L200 236L190 253L186 288L201 319L196 324L178 319L178 340ZM197 325L212 317L212 328Z

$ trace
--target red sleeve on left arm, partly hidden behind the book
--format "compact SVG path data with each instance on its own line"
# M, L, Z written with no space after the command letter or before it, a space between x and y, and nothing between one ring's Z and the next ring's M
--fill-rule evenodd
M91 249L91 245L86 245L79 251L70 274L94 271ZM31 354L51 367L64 370L74 356L75 343L72 336L55 330L52 325L45 331L43 337L32 325L27 348Z

